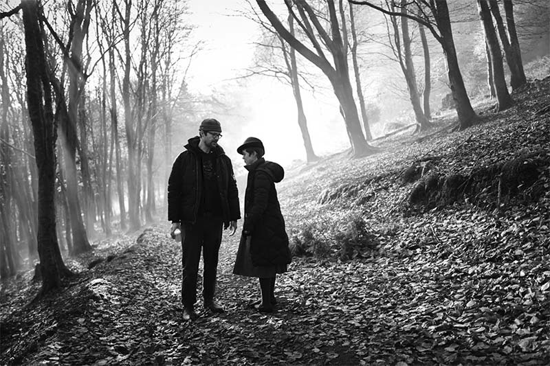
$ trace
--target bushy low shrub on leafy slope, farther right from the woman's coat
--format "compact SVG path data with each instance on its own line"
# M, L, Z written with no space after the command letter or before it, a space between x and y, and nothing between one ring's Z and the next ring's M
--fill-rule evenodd
M374 256L380 242L374 233L366 227L366 222L361 216L351 216L344 231L334 236L338 245L340 260L353 260L355 258L369 258Z

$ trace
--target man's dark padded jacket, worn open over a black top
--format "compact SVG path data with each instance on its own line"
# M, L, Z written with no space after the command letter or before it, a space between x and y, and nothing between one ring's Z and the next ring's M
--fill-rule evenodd
M172 165L168 178L168 220L172 222L195 223L203 189L202 163L199 148L200 138L188 140L184 152L181 152ZM221 211L224 227L229 222L241 218L239 192L233 174L231 159L221 146L212 149L216 155L216 176L221 198Z

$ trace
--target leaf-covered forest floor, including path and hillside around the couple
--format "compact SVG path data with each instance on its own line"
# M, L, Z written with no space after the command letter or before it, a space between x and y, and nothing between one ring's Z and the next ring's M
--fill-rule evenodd
M375 155L288 169L276 312L250 306L224 233L227 311L182 321L181 247L159 222L67 259L78 275L45 299L32 271L3 282L0 364L549 365L550 78L514 99L461 132L440 115Z

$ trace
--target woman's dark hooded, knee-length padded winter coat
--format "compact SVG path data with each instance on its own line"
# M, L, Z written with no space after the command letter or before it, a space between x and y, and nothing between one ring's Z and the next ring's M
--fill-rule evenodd
M254 266L273 266L291 262L285 219L275 190L283 180L281 165L258 159L248 169L245 193L243 236L252 236L250 254Z

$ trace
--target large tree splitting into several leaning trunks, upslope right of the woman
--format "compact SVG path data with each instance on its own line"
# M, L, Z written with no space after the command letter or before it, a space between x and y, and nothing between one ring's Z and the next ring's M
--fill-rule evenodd
M296 51L309 60L309 62L316 65L316 67L325 73L325 76L327 76L331 82L336 98L338 98L340 102L342 115L344 115L344 122L351 142L353 155L355 157L362 157L375 152L376 149L366 142L363 135L358 109L353 99L353 89L349 78L347 49L344 47L344 41L340 33L340 25L338 23L334 1L327 0L330 26L330 30L327 32L327 30L322 27L318 12L311 8L307 1L294 1L294 7L298 11L298 16L296 12L294 12L293 4L289 0L285 0L289 12L291 12L294 19L298 21L298 24L307 35L312 47L315 49L315 52L304 43L298 41L296 36L293 36L289 30L287 30L264 0L256 0L256 3L258 3L259 8L267 20L270 21L276 32L289 43L290 47L296 49ZM325 45L328 52L331 54L333 65L325 56L325 50L322 48L322 45Z

